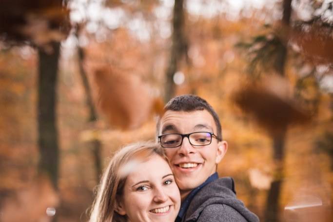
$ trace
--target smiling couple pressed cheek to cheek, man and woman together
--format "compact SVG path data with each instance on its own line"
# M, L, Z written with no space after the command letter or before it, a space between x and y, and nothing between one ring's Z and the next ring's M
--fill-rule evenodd
M221 134L207 101L173 98L157 122L158 144L128 145L112 158L90 222L258 222L236 199L233 179L218 179L228 148Z

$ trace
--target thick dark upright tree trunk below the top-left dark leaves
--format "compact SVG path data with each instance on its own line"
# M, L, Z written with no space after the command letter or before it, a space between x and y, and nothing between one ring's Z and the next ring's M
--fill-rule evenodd
M38 48L38 144L39 172L46 173L55 189L58 189L59 146L57 131L57 75L60 43L53 42L52 53Z

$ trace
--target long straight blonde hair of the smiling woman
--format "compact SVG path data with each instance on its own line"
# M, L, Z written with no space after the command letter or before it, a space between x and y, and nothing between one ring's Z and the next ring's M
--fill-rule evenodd
M116 212L116 202L120 200L123 187L133 164L158 155L167 161L158 143L137 142L127 145L113 156L105 169L96 199L93 203L89 222L126 222L127 217Z

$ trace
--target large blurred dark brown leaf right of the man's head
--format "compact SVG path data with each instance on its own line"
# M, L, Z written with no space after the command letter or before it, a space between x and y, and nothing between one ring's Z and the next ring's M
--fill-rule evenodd
M282 77L269 76L260 82L246 84L234 95L235 103L270 133L279 133L290 124L302 124L311 115L302 110L289 92Z

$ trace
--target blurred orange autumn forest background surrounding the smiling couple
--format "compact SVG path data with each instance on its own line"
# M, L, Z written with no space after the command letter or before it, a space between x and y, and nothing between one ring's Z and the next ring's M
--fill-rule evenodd
M112 153L185 93L261 221L333 220L332 0L2 0L0 221L87 221Z

